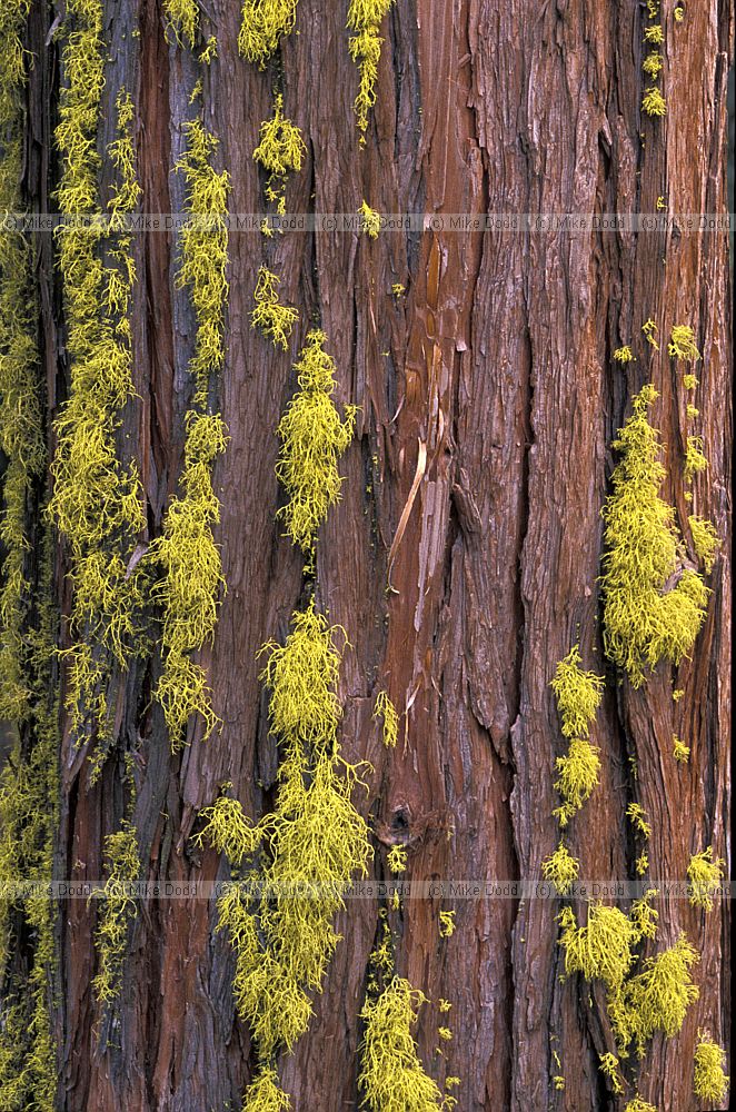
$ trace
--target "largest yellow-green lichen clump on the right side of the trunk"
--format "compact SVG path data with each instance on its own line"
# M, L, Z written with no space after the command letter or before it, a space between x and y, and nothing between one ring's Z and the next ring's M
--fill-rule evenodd
M644 387L614 441L621 458L603 512L604 646L634 687L660 659L678 664L690 652L708 597L703 577L683 565L674 510L659 497L659 434L647 419L656 397Z

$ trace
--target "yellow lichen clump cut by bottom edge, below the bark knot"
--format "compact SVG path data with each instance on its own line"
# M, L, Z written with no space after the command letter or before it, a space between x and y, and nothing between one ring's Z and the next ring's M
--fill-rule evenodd
M431 1112L442 1094L417 1053L412 1029L427 997L395 976L375 1000L366 1000L358 1085L371 1112Z

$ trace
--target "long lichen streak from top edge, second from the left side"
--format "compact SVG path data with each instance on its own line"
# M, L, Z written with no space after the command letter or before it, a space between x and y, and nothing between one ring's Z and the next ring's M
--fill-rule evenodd
M130 98L117 99L118 138L108 153L117 180L108 200L109 232L101 221L84 227L73 217L100 214L97 123L106 47L102 4L73 0L68 16L76 30L62 50L68 78L60 95L57 143L62 173L57 192L67 224L58 229L71 384L54 423L57 453L51 466L49 513L71 550L73 585L66 705L74 732L86 722L108 741L107 683L110 657L125 671L139 641L138 613L146 570L129 560L145 528L142 490L133 460L118 459L116 431L135 395L129 305L136 280L125 217L138 203ZM102 254L111 261L103 265ZM102 759L100 754L97 761ZM99 771L99 770L98 770Z

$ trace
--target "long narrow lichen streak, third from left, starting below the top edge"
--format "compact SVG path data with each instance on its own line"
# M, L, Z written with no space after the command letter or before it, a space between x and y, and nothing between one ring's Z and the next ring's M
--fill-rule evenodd
M206 735L219 721L205 669L191 657L213 637L218 597L225 587L213 535L220 505L212 487L212 468L228 441L222 418L208 413L207 404L210 379L225 364L229 178L227 171L218 173L211 166L217 140L199 120L186 125L186 132L188 148L177 169L187 181L187 211L192 219L182 235L178 284L189 289L197 318L189 364L196 390L186 417L180 493L172 498L163 533L147 557L163 572L151 592L163 607L163 672L155 695L163 707L173 748L182 743L191 714L201 715Z

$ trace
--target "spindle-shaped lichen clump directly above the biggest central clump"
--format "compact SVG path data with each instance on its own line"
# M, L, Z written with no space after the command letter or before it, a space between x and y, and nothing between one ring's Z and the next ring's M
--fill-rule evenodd
M276 474L289 499L279 516L291 542L309 555L328 509L339 502L342 479L337 464L352 438L357 413L355 406L346 406L340 420L332 401L335 360L325 351L326 341L319 329L307 335L295 364L299 390L278 427L281 450Z

